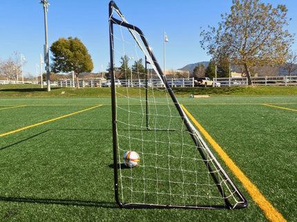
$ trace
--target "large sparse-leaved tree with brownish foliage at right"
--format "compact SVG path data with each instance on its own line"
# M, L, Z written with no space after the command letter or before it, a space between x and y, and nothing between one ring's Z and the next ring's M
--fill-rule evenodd
M213 58L227 57L229 62L242 65L252 85L249 69L285 63L294 34L283 30L289 25L285 5L272 8L259 0L232 2L231 14L222 14L218 29L203 30L200 44Z

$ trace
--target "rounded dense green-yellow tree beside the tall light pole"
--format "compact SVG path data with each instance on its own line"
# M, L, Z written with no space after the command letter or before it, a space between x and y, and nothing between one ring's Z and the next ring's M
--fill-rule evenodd
M94 68L93 61L88 54L86 46L75 37L59 38L52 43L50 51L52 57L53 72L75 72L77 88L79 88L78 77L81 72L91 72Z

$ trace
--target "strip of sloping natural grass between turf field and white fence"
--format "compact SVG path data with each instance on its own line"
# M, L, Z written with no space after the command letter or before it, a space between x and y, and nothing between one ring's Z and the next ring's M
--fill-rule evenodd
M126 92L126 88L117 88L120 94ZM137 96L144 89L129 89L131 96ZM213 96L233 95L233 96L251 96L251 95L297 95L296 86L253 86L253 87L196 87L196 88L173 88L176 96L190 96L191 94L210 94ZM157 91L156 91L157 93ZM161 95L155 94L155 96ZM0 85L1 98L54 98L54 97L111 97L111 88L59 88L52 87L50 92L46 91L46 86L41 89L38 85L32 84L4 84Z

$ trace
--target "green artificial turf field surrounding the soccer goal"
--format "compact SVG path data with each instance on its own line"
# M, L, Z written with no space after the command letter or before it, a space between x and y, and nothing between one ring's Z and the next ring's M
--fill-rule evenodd
M295 221L297 97L178 99L267 201ZM247 208L119 209L110 103L99 97L0 99L0 221L267 221L215 151Z

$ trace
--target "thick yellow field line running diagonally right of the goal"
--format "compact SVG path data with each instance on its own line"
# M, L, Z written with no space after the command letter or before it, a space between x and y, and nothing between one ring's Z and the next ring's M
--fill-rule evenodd
M209 143L211 143L215 151L218 152L222 160L227 164L227 166L230 168L233 174L235 174L235 176L240 180L242 185L245 186L245 189L247 190L247 192L249 192L253 201L255 201L262 209L262 211L265 213L267 219L269 219L270 221L286 221L282 214L280 214L280 212L278 212L274 208L274 206L271 205L271 203L269 203L267 199L265 199L265 196L263 196L260 193L256 185L251 183L249 178L247 178L247 176L245 176L245 174L240 170L240 168L238 168L238 166L230 159L227 153L224 152L224 150L222 150L220 145L218 145L218 143L216 143L212 139L209 133L206 130L204 130L204 128L202 128L202 125L200 125L198 121L196 121L195 118L191 115L191 113L188 110L186 110L186 108L184 108L184 105L181 106L184 112L186 112L188 117L191 119L191 121L193 121L193 123L197 126L198 130L200 130L200 132L209 141Z

